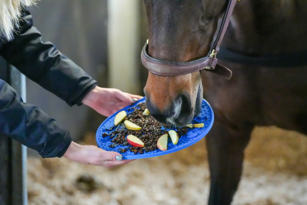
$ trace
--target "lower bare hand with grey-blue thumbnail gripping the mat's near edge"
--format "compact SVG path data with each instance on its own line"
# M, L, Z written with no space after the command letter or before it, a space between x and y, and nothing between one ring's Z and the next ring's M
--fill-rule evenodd
M122 160L122 155L117 152L106 151L94 145L80 145L75 142L69 145L63 156L82 164L102 167L113 167L133 161Z

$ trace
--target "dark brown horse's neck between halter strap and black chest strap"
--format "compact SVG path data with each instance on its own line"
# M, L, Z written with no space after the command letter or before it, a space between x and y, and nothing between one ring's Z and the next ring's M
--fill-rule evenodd
M307 49L306 0L241 0L232 14L223 46L247 54Z

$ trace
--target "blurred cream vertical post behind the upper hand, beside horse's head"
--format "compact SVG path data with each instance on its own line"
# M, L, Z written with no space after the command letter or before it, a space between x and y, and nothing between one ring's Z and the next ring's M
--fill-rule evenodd
M108 0L109 87L140 93L140 1Z

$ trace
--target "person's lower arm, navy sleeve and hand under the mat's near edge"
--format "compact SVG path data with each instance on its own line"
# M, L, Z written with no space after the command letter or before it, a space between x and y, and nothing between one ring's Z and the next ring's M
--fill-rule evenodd
M112 167L133 160L122 160L117 152L107 152L93 145L72 141L61 128L35 105L24 103L17 92L0 79L0 133L36 150L43 158L66 157L96 166Z

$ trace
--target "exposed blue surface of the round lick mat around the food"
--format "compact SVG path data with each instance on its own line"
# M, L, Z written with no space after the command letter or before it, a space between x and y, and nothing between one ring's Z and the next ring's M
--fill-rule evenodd
M133 109L131 108L135 108L135 107L138 108L137 105L143 102L145 102L145 97L135 102L134 104L119 110L118 112L125 110L128 116L131 112L133 112ZM118 152L117 150L119 148L130 147L130 146L119 145L119 146L116 146L115 148L110 148L109 145L112 144L110 137L102 136L103 133L110 134L112 131L116 129L116 127L114 127L114 118L118 112L114 113L113 115L108 117L106 120L104 120L96 132L96 141L97 141L98 147L104 150L107 150L107 151ZM149 157L161 156L161 155L166 155L169 153L177 152L201 140L211 129L212 124L213 124L213 119L214 119L213 110L210 104L203 99L202 105L201 105L201 113L199 116L194 118L196 122L205 121L203 128L188 128L187 134L185 136L181 136L181 138L179 138L179 141L176 145L174 145L172 142L169 142L168 149L166 151L161 151L159 149L156 149L154 151L145 152L143 154L139 154L139 153L134 154L133 152L130 152L130 150L127 150L125 153L120 153L120 154L123 156L124 160L128 160L128 159L149 158ZM120 126L125 126L125 125L122 123ZM113 128L113 129L110 129L110 128ZM177 131L177 129L175 128L173 129Z

